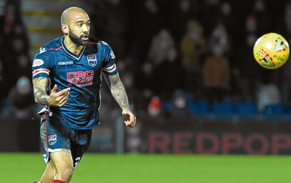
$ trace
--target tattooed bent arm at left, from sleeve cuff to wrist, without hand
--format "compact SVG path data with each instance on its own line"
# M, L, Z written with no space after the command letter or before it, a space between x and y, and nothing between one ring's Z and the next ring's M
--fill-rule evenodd
M47 85L48 79L45 77L38 77L33 80L34 97L39 104L48 105Z

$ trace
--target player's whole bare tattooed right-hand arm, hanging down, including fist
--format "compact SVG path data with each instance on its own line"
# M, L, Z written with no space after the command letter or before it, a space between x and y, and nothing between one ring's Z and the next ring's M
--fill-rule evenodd
M114 99L123 110L122 115L128 119L127 121L124 121L126 126L133 127L135 125L136 118L129 109L129 99L125 87L120 80L119 74L104 74L104 76Z

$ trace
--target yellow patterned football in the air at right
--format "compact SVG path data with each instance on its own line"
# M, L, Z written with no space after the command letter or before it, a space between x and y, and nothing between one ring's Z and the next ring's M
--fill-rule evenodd
M254 57L267 69L281 67L289 57L289 44L280 34L264 34L255 43Z

